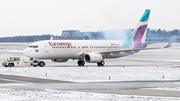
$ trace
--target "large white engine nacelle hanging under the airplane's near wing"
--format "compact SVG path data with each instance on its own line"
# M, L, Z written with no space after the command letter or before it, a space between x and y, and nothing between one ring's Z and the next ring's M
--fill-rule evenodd
M89 62L89 63L98 63L103 60L103 57L101 54L95 54L95 53L88 53L85 55L84 58L86 62Z

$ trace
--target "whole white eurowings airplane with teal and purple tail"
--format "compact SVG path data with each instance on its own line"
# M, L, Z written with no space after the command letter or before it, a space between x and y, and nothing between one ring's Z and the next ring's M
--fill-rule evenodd
M53 62L66 62L78 59L78 66L97 63L104 66L104 59L119 58L138 53L140 50L161 49L171 46L174 37L165 47L146 48L145 42L150 9L146 9L132 34L122 40L44 40L37 41L23 50L23 54L31 60L51 59ZM39 61L43 67L45 63Z

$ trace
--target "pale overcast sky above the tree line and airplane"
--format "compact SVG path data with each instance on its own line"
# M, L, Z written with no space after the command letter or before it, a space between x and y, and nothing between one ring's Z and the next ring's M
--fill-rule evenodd
M0 0L0 37L131 29L145 9L150 29L180 29L180 0Z

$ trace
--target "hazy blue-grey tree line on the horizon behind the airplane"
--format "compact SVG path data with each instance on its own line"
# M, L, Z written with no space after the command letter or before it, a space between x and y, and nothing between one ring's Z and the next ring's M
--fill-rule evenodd
M14 37L0 37L0 42L35 42L40 40L49 40L51 36L55 40L113 40L119 39L122 40L123 38L128 37L132 33L133 29L128 30L110 30L110 31L98 31L98 32L79 32L75 34L71 34L67 37L62 36L55 36L55 35L31 35L31 36L14 36ZM176 35L175 41L180 41L180 30L154 30L148 29L146 41L153 42L153 41L169 41L174 35Z

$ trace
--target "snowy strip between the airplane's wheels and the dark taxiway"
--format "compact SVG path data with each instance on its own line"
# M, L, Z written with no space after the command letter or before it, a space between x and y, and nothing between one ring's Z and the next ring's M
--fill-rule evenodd
M173 67L0 67L1 74L66 81L177 80L180 68ZM46 76L47 73L47 76Z

